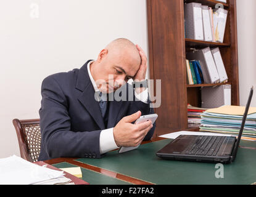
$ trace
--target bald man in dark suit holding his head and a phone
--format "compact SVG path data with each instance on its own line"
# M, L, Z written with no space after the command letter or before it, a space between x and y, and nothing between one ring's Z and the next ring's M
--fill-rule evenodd
M150 140L155 124L133 124L141 115L154 113L149 107L146 70L141 47L120 38L101 50L97 60L44 79L38 161L101 158L116 148ZM127 83L129 79L135 86Z

